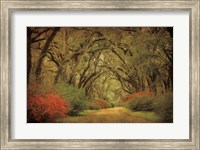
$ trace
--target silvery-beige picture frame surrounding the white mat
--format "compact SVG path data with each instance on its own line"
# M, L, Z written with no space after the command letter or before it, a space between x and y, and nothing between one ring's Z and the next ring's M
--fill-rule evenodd
M200 1L199 0L0 0L0 149L200 149ZM16 10L171 10L190 13L189 140L13 140L10 137L11 14Z

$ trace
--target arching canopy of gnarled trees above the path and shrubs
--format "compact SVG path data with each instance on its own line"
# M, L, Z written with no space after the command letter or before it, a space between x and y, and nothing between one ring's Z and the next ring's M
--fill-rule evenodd
M28 84L64 83L89 99L173 90L172 27L28 27Z

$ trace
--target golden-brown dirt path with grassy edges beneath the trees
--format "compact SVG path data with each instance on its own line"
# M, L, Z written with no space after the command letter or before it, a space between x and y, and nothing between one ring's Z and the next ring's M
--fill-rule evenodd
M65 123L157 123L160 117L154 112L133 112L125 107L85 110L77 116L60 120Z

